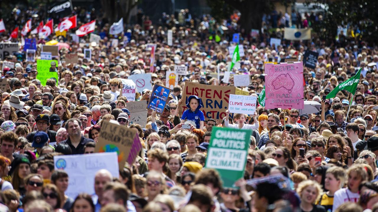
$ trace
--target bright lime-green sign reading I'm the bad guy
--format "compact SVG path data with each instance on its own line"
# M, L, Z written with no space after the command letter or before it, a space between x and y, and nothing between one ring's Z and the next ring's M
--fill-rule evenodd
M58 73L54 71L57 65L57 60L37 60L37 80L41 81L42 86L45 86L46 80L51 77L56 78L56 85L58 85Z

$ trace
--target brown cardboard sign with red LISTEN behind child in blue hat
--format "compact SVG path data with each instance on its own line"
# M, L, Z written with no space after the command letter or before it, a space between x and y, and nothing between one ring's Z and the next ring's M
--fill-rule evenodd
M185 81L182 94L183 102L178 106L180 114L187 109L187 98L191 95L197 95L202 99L204 108L201 108L205 119L213 118L222 122L222 118L226 116L228 108L228 99L230 94L235 94L234 86L217 86L205 85Z

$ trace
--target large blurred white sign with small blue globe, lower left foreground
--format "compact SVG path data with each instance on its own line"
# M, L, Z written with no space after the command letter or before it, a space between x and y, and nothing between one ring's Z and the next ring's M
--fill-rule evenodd
M80 155L55 155L54 169L64 170L70 175L65 191L68 197L76 198L80 193L95 194L95 174L100 169L108 170L113 177L119 177L116 152Z

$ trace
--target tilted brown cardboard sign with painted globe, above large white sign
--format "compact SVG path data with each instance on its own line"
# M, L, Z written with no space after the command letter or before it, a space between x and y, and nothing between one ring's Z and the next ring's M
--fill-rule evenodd
M134 142L140 143L135 131L126 126L104 121L101 125L101 132L96 143L95 152L117 152L118 166L121 169L129 158L130 152L135 154L136 150L132 150Z

